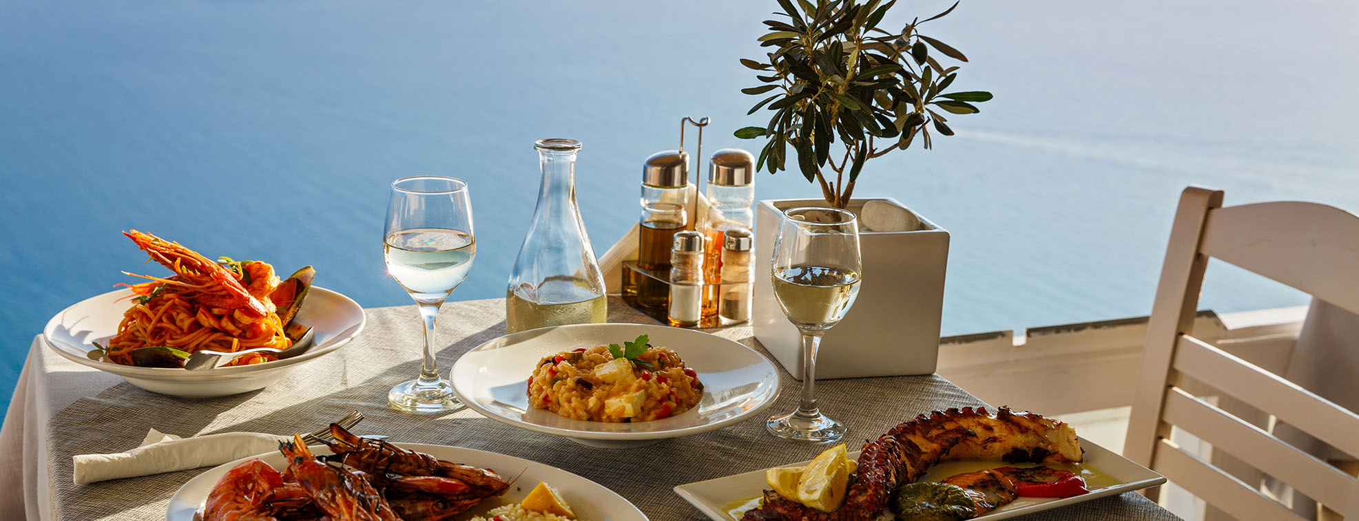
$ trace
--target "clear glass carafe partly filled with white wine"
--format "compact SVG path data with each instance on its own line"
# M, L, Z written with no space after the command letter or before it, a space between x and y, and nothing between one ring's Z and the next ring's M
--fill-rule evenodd
M603 323L609 316L603 274L576 205L580 141L540 140L534 148L542 185L506 289L506 332ZM667 248L667 260L669 254Z

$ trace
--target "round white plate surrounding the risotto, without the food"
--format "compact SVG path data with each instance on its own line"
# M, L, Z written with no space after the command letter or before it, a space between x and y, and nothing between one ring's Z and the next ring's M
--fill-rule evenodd
M648 335L652 346L670 347L697 373L703 381L697 406L635 423L571 419L529 406L529 377L542 357L621 345L639 335ZM758 415L779 396L779 370L756 350L701 331L643 324L559 326L500 336L458 358L451 380L458 399L487 418L601 448L643 446L722 429Z

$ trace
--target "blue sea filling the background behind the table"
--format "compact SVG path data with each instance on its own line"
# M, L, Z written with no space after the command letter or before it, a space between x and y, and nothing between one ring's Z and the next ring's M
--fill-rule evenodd
M898 3L885 24L947 5ZM571 137L603 252L681 117L712 117L704 151L758 149L731 136L766 121L746 115L761 98L739 92L757 80L738 58L764 56L775 9L0 0L0 400L52 315L133 281L121 270L159 270L125 229L283 273L314 265L364 307L401 305L379 243L389 185L453 175L480 243L454 300L501 297L537 197L533 142ZM923 28L969 56L954 88L995 100L950 118L958 136L934 151L871 161L855 194L953 233L946 335L1146 315L1186 185L1359 210L1356 15L1320 0L964 1ZM819 193L795 172L756 187ZM1201 307L1303 303L1215 266Z

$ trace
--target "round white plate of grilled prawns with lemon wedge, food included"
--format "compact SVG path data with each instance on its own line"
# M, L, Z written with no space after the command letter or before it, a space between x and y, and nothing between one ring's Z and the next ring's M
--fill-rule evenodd
M170 498L169 521L647 521L609 488L541 463L446 445L391 444L330 425L212 468Z

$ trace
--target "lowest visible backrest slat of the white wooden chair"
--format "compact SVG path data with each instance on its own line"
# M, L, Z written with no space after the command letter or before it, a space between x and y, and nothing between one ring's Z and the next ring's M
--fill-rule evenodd
M1186 455L1169 440L1161 440L1157 445L1155 456L1151 460L1152 467L1171 482L1193 483L1195 495L1231 517L1238 520L1306 521L1239 479Z

